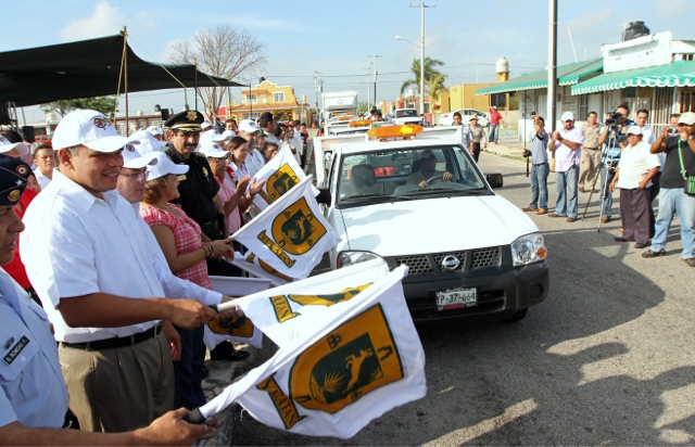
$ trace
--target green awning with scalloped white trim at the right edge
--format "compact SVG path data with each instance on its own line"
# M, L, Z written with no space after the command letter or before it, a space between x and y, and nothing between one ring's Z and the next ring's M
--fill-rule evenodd
M572 94L627 87L695 87L695 61L675 61L668 65L604 73L572 86Z

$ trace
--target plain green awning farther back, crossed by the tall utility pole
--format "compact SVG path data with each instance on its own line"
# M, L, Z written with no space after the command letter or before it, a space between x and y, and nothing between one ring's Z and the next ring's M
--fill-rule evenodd
M560 86L571 86L579 82L579 79L601 72L604 68L604 60L574 62L573 64L557 67L557 84ZM547 71L529 73L504 82L477 90L476 94L506 93L508 91L534 90L547 88Z

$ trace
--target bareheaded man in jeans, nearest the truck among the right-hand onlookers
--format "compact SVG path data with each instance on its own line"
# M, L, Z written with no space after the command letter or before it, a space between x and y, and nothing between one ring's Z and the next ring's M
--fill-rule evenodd
M545 131L545 122L542 117L536 116L533 120L535 135L531 139L531 150L523 150L523 157L531 157L533 167L531 168L531 203L523 212L535 212L538 215L547 213L547 176L551 173L547 164L547 143L549 137ZM540 205L539 205L540 199Z

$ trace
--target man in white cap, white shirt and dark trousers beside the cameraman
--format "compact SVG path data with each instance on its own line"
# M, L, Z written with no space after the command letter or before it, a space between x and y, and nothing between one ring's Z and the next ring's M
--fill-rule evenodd
M635 241L635 248L644 248L649 242L649 187L659 171L659 157L649 152L652 145L643 140L637 126L628 129L628 145L620 154L610 192L620 188L620 215L622 237L618 242Z

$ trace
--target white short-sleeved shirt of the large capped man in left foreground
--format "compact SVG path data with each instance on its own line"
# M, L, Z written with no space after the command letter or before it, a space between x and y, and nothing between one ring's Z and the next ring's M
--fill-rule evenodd
M102 196L54 170L51 188L37 195L24 215L22 259L60 342L123 337L157 323L70 328L56 309L61 299L97 292L136 299L165 296L161 269L132 206L116 190Z

